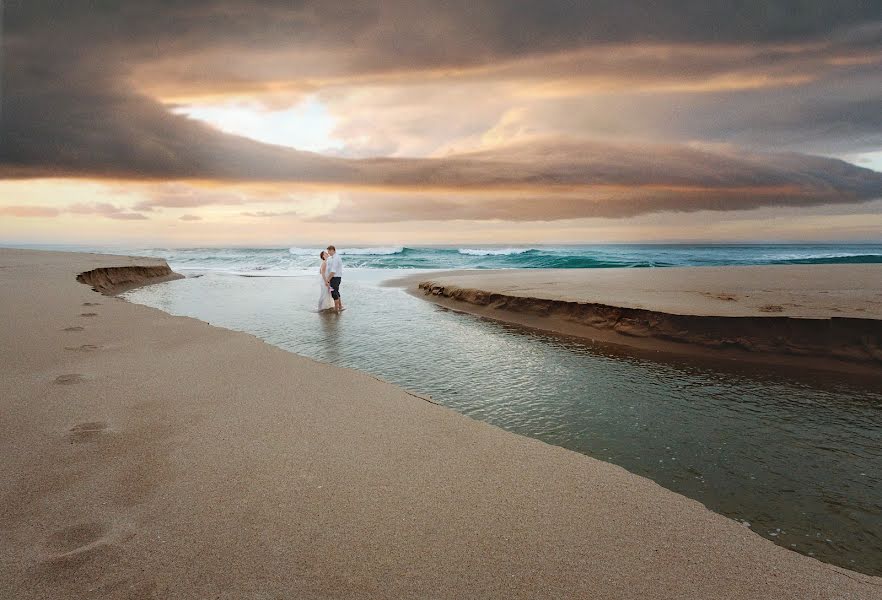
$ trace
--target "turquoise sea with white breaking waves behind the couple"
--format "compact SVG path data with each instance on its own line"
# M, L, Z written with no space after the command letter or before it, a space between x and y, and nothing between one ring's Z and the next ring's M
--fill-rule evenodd
M159 256L175 269L243 275L300 275L320 248L127 248ZM632 244L593 246L341 247L361 269L593 269L769 264L882 263L882 244Z

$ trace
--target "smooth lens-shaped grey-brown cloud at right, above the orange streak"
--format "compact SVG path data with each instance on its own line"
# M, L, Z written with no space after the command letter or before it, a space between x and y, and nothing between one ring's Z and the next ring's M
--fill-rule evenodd
M882 174L822 157L715 145L636 144L537 138L438 159L362 161L389 187L533 190L620 186L877 197Z

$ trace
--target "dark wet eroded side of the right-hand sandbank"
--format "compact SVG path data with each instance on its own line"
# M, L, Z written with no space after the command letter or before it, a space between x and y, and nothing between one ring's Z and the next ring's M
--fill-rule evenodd
M442 272L436 277L457 275ZM882 320L705 316L515 296L436 281L384 282L445 308L555 335L672 355L882 376ZM709 352L710 351L710 352Z

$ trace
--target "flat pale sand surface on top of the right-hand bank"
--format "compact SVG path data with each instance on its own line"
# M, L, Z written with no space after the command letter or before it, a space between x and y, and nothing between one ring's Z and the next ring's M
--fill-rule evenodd
M509 269L419 279L672 314L882 319L882 265Z

